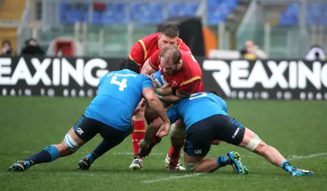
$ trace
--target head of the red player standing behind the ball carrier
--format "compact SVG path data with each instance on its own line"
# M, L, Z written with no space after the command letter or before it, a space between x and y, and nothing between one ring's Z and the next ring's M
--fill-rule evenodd
M179 30L177 26L172 24L166 24L160 29L160 36L158 36L159 48L165 48L167 46L177 46Z

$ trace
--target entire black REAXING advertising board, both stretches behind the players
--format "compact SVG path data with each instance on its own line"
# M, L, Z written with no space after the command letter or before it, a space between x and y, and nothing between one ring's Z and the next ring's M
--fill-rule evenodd
M123 59L0 57L2 96L94 97ZM327 63L197 58L205 91L231 99L327 100Z

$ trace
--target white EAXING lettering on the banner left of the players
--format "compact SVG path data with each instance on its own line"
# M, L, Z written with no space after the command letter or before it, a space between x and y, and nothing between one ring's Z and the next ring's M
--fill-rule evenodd
M24 58L19 59L14 71L10 67L11 62L11 58L0 58L0 85L16 85L18 80L25 80L29 86L36 86L41 81L45 86L69 86L69 78L72 77L80 87L84 86L84 81L92 87L97 87L100 78L108 72L105 69L107 62L103 59L91 59L86 63L84 59L77 59L75 68L65 58L46 58L42 62L38 58L32 58L31 63L36 71L33 76ZM46 73L51 64L52 79ZM92 76L91 71L96 67L100 69L96 71L96 76Z

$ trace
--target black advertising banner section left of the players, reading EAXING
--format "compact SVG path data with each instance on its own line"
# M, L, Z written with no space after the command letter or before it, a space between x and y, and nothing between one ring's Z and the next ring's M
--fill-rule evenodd
M119 59L0 57L2 96L94 97Z

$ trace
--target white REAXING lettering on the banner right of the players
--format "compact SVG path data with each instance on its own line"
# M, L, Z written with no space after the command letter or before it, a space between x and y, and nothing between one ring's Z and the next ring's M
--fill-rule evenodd
M250 70L250 63L246 60L231 61L230 65L221 60L205 60L203 69L213 71L213 77L218 85L224 91L227 97L240 99L261 98L268 99L268 92L243 92L234 91L234 89L251 89L255 85L261 84L265 89L273 89L277 85L281 89L306 89L307 82L315 87L318 91L322 87L327 88L327 64L321 62L313 62L312 70L302 61L267 61L265 63L271 76L268 75L262 61L258 60L254 63ZM285 72L288 69L288 77ZM229 78L229 82L228 82ZM232 91L233 90L233 91ZM292 99L293 95L290 91L277 92L277 99ZM322 99L321 94L313 93L300 94L300 98Z

